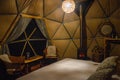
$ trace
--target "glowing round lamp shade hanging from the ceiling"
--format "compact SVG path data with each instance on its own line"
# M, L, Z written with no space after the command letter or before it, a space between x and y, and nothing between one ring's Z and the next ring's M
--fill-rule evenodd
M75 2L74 0L65 0L62 3L62 9L66 13L71 13L75 9Z

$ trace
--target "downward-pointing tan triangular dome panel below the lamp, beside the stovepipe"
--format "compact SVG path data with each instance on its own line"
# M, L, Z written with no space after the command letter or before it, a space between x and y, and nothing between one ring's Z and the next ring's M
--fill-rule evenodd
M73 37L77 27L79 27L79 22L80 21L77 20L77 21L73 21L73 22L64 23L64 25L71 37Z

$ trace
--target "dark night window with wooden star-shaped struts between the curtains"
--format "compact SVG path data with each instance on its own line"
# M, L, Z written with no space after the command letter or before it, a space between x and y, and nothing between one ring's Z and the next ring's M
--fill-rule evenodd
M25 31L16 40L9 43L10 54L14 56L43 55L46 47L46 38L41 33L35 19L27 25Z

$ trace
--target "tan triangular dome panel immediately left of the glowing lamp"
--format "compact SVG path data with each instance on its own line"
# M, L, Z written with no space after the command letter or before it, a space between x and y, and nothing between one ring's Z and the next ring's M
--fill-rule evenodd
M64 15L64 12L62 11L62 9L61 8L57 8L54 12L52 12L51 14L49 14L47 16L47 18L48 19L52 19L54 21L62 22L63 15Z

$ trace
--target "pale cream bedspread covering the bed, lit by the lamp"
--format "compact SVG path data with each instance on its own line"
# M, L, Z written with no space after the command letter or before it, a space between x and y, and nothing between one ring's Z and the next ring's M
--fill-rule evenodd
M66 58L42 67L17 80L87 80L99 63Z

